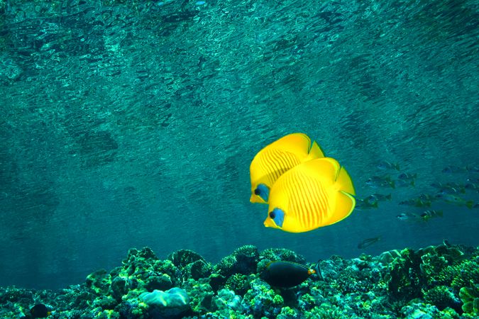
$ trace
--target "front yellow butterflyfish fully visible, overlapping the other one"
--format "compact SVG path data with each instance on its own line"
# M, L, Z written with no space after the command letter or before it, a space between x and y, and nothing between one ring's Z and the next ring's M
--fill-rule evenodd
M330 157L312 159L282 174L270 191L266 227L302 233L337 223L356 205L353 181Z

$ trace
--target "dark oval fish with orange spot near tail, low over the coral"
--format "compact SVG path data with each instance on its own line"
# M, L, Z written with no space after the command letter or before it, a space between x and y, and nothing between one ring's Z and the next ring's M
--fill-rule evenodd
M277 260L266 266L263 279L271 286L290 288L301 284L312 274L316 274L316 270L296 262Z

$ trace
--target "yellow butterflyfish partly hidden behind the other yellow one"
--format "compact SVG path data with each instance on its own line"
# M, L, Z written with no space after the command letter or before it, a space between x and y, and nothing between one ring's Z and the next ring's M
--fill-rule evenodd
M270 189L285 172L302 162L324 157L303 133L286 135L260 150L250 164L251 203L268 203Z

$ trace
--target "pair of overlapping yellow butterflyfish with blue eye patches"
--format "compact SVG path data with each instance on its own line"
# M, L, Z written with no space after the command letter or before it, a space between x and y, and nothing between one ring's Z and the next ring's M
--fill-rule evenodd
M268 203L266 227L302 233L337 223L356 205L346 169L307 135L286 135L250 165L252 203Z

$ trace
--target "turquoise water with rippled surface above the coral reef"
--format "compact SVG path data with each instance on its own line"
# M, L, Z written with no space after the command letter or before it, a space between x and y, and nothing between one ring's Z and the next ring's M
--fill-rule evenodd
M1 286L75 284L130 247L313 262L478 245L479 209L431 186L479 202L478 1L139 2L0 1ZM392 200L309 233L264 228L249 164L294 132L358 198ZM366 184L402 173L414 186ZM399 204L421 194L430 208ZM426 209L444 216L397 218Z

